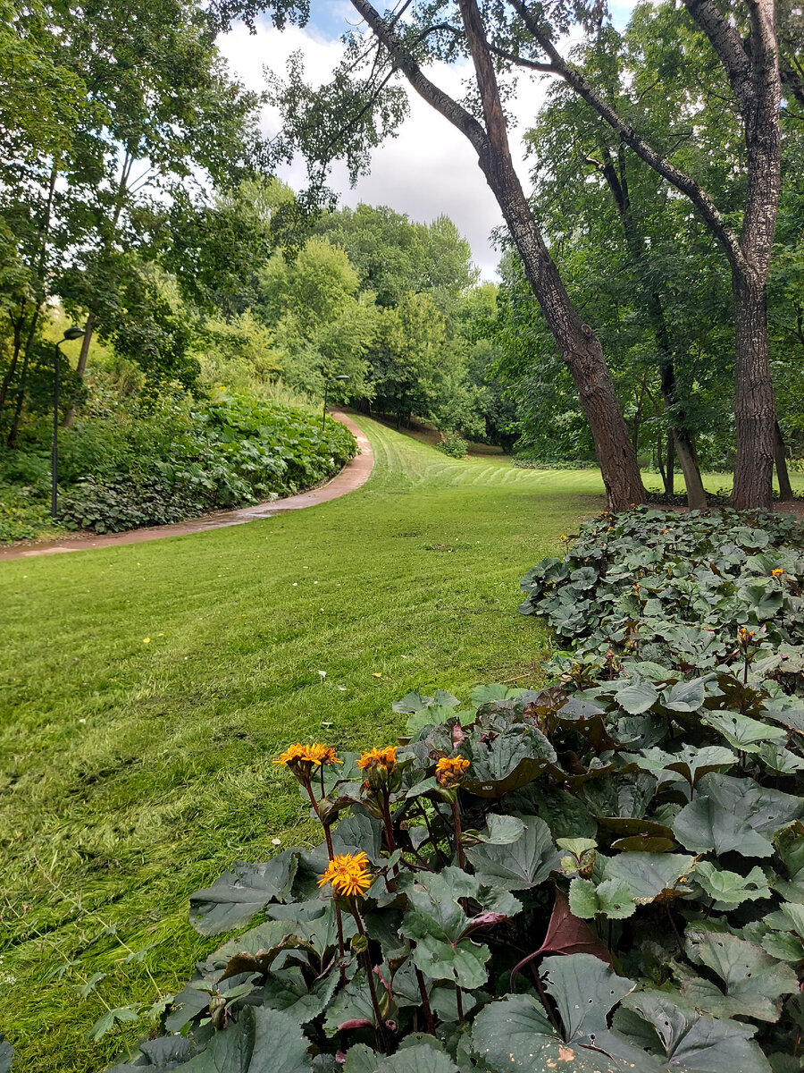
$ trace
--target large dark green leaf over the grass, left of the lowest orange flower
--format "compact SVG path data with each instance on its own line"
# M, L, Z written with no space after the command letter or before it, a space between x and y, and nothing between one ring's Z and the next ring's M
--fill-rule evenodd
M269 902L287 899L297 866L298 855L293 850L263 864L236 861L212 886L190 895L190 923L203 936L217 936L243 924Z

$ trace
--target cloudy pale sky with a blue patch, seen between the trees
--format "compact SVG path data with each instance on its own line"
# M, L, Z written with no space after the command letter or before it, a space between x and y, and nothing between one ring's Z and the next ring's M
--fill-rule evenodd
M614 5L615 25L625 20L629 6L627 0ZM282 74L288 56L301 50L310 80L325 82L341 55L341 34L360 24L348 0L313 0L311 11L311 21L303 30L286 27L279 32L264 19L257 23L255 34L237 26L220 38L219 46L233 74L248 89L262 90L266 84L265 70ZM428 69L433 82L458 98L463 95L462 80L470 74L468 61ZM544 76L534 79L524 76L519 80L516 99L508 105L516 121L510 130L511 152L525 190L528 167L522 133L538 112L549 85L550 79ZM468 240L481 278L494 279L498 252L492 242L492 232L502 223L502 215L477 165L477 156L466 138L416 93L408 91L408 118L394 138L373 151L370 174L352 188L345 167L337 164L329 185L345 206L354 207L360 202L388 205L420 223L448 216ZM262 126L264 134L276 134L280 127L278 112L267 107ZM306 181L304 163L296 160L281 167L278 175L299 190Z

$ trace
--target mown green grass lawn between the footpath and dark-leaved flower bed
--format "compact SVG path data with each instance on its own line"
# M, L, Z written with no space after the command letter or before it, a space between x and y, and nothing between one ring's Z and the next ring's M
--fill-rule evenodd
M220 945L190 928L188 895L276 839L318 841L271 763L288 743L384 745L411 689L465 700L477 682L540 680L549 638L517 615L518 582L602 508L598 474L453 461L360 423L375 471L343 499L0 564L0 1030L15 1073L103 1070L147 1030L90 1042L104 1003L172 994Z

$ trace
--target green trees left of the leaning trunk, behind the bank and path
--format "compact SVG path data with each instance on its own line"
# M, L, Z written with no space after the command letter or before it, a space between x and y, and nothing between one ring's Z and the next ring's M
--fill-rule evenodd
M86 328L64 427L109 391L152 412L219 380L319 399L346 374L334 400L510 444L475 330L494 289L453 224L321 211L267 176L263 99L214 35L183 0L0 10L4 449L47 435L58 307Z

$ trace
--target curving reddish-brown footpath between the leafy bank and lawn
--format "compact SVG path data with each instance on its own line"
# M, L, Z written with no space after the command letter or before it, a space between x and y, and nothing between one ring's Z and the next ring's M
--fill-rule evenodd
M336 421L348 428L357 440L358 454L346 462L340 473L319 488L288 496L287 499L274 499L272 502L257 503L256 506L243 506L236 511L215 511L199 518L189 518L169 526L151 526L148 529L130 529L122 533L103 533L89 535L76 533L74 536L62 536L55 541L43 541L41 544L18 544L14 547L0 549L0 559L27 559L35 555L56 555L60 552L87 552L99 547L117 547L120 544L140 544L150 540L163 540L166 536L187 536L191 533L204 533L210 529L223 529L226 526L241 526L247 521L259 518L270 518L284 511L300 511L306 506L316 506L330 499L338 499L349 491L355 491L371 476L374 468L374 455L369 438L346 414L332 411L329 414Z

